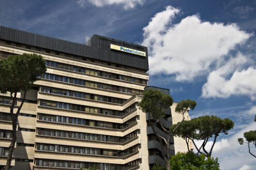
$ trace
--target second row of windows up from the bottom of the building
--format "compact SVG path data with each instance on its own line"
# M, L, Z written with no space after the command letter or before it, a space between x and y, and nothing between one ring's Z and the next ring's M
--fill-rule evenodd
M100 148L92 148L92 147L78 147L78 146L38 143L37 150L58 151L58 152L67 152L67 153L75 153L75 154L125 157L127 155L130 155L138 151L138 145L134 145L125 150L113 150L113 149L100 149Z

